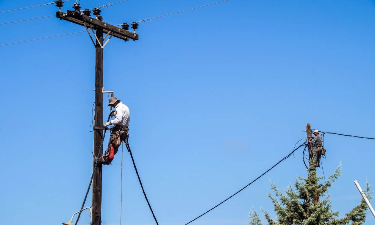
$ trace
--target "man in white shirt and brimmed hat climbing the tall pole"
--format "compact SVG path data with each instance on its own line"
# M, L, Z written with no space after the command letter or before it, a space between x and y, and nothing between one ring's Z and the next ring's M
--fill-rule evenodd
M103 124L104 127L110 126L111 124L114 125L112 127L111 138L107 150L105 150L104 154L99 158L99 162L105 165L110 165L114 155L118 151L118 146L120 146L122 141L129 138L128 130L130 123L129 108L125 104L120 102L116 97L108 99L108 103L108 106L114 107L116 110L113 114L115 118Z

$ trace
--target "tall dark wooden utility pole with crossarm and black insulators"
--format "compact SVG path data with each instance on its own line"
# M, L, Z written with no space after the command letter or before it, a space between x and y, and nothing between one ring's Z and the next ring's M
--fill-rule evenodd
M134 32L129 32L129 25L124 23L121 24L122 28L117 26L104 23L100 15L101 10L95 8L93 14L96 15L96 18L90 17L91 12L88 9L83 10L81 13L80 4L74 3L74 9L76 11L67 10L66 13L61 12L60 7L62 6L62 1L56 1L56 5L59 7L59 11L56 12L56 17L60 20L66 20L81 26L84 26L89 34L92 42L95 45L95 124L96 128L94 132L94 155L100 156L103 151L103 131L100 129L103 125L103 49L107 45L111 37L117 37L124 41L127 40L138 40L138 34L135 33L137 28L137 23L132 23L132 28ZM96 41L94 42L93 37L90 34L89 29L92 30L93 35L95 36ZM94 30L96 32L94 32ZM107 35L103 37L103 33ZM104 42L104 39L107 40ZM98 129L99 127L99 129ZM95 166L95 161L93 162ZM92 215L91 215L91 224L99 225L101 223L101 211L102 211L102 165L98 165L98 168L93 175L92 181ZM99 218L99 219L98 219ZM76 222L77 223L77 222Z

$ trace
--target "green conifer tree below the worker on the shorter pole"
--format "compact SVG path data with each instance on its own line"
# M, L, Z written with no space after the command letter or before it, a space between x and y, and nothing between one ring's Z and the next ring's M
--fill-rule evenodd
M309 169L307 178L297 177L295 187L288 185L285 194L279 191L274 183L271 188L275 196L267 195L273 203L277 219L272 219L266 210L261 208L269 225L361 225L366 220L368 206L362 199L359 205L353 208L345 217L338 219L339 212L330 207L328 187L341 175L341 163L336 171L330 175L327 183L319 183L323 177L317 177L314 167ZM371 184L366 180L365 190L368 199L372 198ZM324 197L322 200L320 197ZM249 213L250 225L263 225L259 214L254 210Z

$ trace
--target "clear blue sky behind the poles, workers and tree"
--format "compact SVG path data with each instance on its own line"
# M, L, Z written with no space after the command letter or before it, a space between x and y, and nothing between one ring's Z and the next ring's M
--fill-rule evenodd
M1 1L0 10L47 2ZM129 0L102 16L120 24L212 2ZM56 10L0 13L0 23ZM135 42L111 39L104 87L130 108L129 142L159 223L184 224L248 184L305 137L308 122L375 137L374 13L369 0L229 0L141 23ZM0 26L1 43L84 30L54 17ZM61 224L80 209L92 171L95 49L86 33L0 48L2 223ZM329 189L341 216L361 200L354 180L375 183L374 146L325 137L326 176L342 162ZM243 225L253 206L275 217L269 180L283 189L307 175L302 151L295 156L192 224ZM108 225L120 219L120 162L118 153L103 169ZM123 180L123 224L154 224L127 151ZM374 222L368 214L365 224Z

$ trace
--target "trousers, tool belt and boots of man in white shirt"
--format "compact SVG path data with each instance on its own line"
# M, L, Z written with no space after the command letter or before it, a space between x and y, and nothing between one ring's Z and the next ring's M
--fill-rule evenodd
M110 165L113 160L114 155L118 151L118 147L121 145L121 142L129 138L129 133L127 130L112 130L111 138L108 141L107 149L104 154L99 158L102 164ZM116 144L114 144L116 143Z

